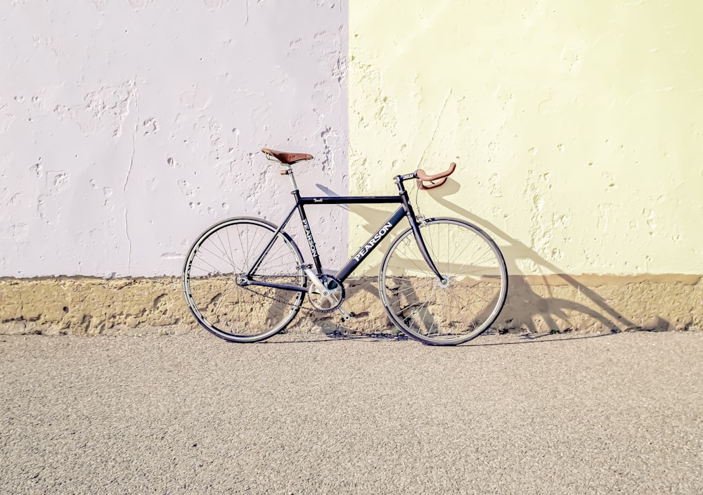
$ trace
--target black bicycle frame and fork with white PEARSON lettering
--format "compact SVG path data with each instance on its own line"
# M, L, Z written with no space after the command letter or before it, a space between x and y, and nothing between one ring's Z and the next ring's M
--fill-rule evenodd
M269 254L269 251L273 247L273 243L276 242L276 238L278 237L278 234L283 231L283 228L288 224L288 221L290 221L291 217L293 214L297 211L300 215L300 220L302 221L303 225L303 230L305 231L305 237L307 238L308 245L310 248L310 252L313 258L315 270L317 276L322 276L323 271L322 271L322 264L320 262L320 256L318 255L317 252L317 246L315 244L315 240L312 235L312 231L310 230L310 225L308 223L307 215L305 214L305 206L307 205L359 205L359 204L392 204L392 203L400 203L399 208L390 216L388 219L380 226L380 229L376 231L368 240L366 240L366 243L363 243L361 247L356 251L356 254L349 258L349 261L347 261L347 264L344 264L342 266L342 269L340 271L337 271L337 274L334 275L337 280L340 282L344 282L349 275L352 274L352 272L356 269L359 264L363 262L364 259L368 255L370 255L375 248L378 247L378 245L381 243L383 239L386 238L386 236L394 229L396 225L400 223L400 221L403 219L403 217L407 217L408 222L410 223L410 227L413 231L413 236L415 236L415 242L418 243L418 248L420 248L420 253L423 255L423 258L425 259L425 262L427 262L427 265L430 267L432 272L439 278L440 281L444 281L444 277L439 273L437 270L437 266L434 265L434 262L432 261L432 258L430 257L430 253L427 251L427 246L425 245L425 241L423 240L423 236L420 233L420 227L418 226L418 219L415 217L415 212L413 211L413 207L410 204L410 201L408 200L408 193L405 190L405 187L403 185L404 180L408 180L413 178L412 175L410 176L396 176L396 184L398 185L399 189L399 194L394 195L394 196L335 196L335 197L323 197L323 198L314 198L314 197L302 197L299 194L299 191L295 190L292 191L292 195L295 197L295 205L292 207L288 215L285 217L285 220L283 221L280 226L278 226L278 229L276 230L275 233L273 233L273 237L269 241L269 243L266 245L266 248L262 251L262 254L259 255L257 258L257 261L254 262L252 265L251 269L247 271L245 274L247 278L247 285L262 285L264 287L272 287L272 288L280 288L280 289L285 289L285 290L296 290L298 292L307 292L307 288L304 287L299 287L296 285L285 285L285 284L280 284L280 283L266 283L262 281L257 281L254 280L253 277L256 274L257 269L259 266L262 264L264 258L266 257L267 254Z

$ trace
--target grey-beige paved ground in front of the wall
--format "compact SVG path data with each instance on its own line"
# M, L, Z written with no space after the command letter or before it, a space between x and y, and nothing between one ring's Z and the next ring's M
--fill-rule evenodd
M703 333L0 336L0 493L702 494Z

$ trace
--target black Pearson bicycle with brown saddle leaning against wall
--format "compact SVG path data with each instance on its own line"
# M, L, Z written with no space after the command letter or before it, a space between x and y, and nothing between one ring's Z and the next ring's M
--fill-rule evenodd
M307 294L314 311L339 311L344 281L402 219L410 226L393 241L381 263L378 291L386 313L402 332L427 345L458 345L495 321L508 293L508 270L498 245L477 226L460 219L416 215L405 181L419 189L439 187L456 164L439 174L418 169L394 177L397 195L301 196L292 165L307 153L263 148L288 176L295 198L283 223L233 217L214 224L195 240L183 265L183 293L195 319L231 342L257 342L283 330ZM305 207L312 205L399 204L398 209L335 274L323 270ZM313 264L306 264L283 229L299 213Z

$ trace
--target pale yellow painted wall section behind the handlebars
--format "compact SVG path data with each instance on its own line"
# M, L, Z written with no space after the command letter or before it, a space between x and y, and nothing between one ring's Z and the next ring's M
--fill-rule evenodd
M351 194L456 161L420 208L490 231L512 274L703 274L701 2L349 8ZM352 208L350 252L385 216Z

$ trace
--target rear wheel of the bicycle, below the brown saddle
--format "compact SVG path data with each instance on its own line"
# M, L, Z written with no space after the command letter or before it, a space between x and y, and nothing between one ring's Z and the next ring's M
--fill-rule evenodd
M304 293L262 285L243 285L277 227L248 217L216 224L193 244L183 266L183 292L202 326L231 342L257 342L283 330L295 318ZM254 281L305 287L302 256L280 232L256 270Z

